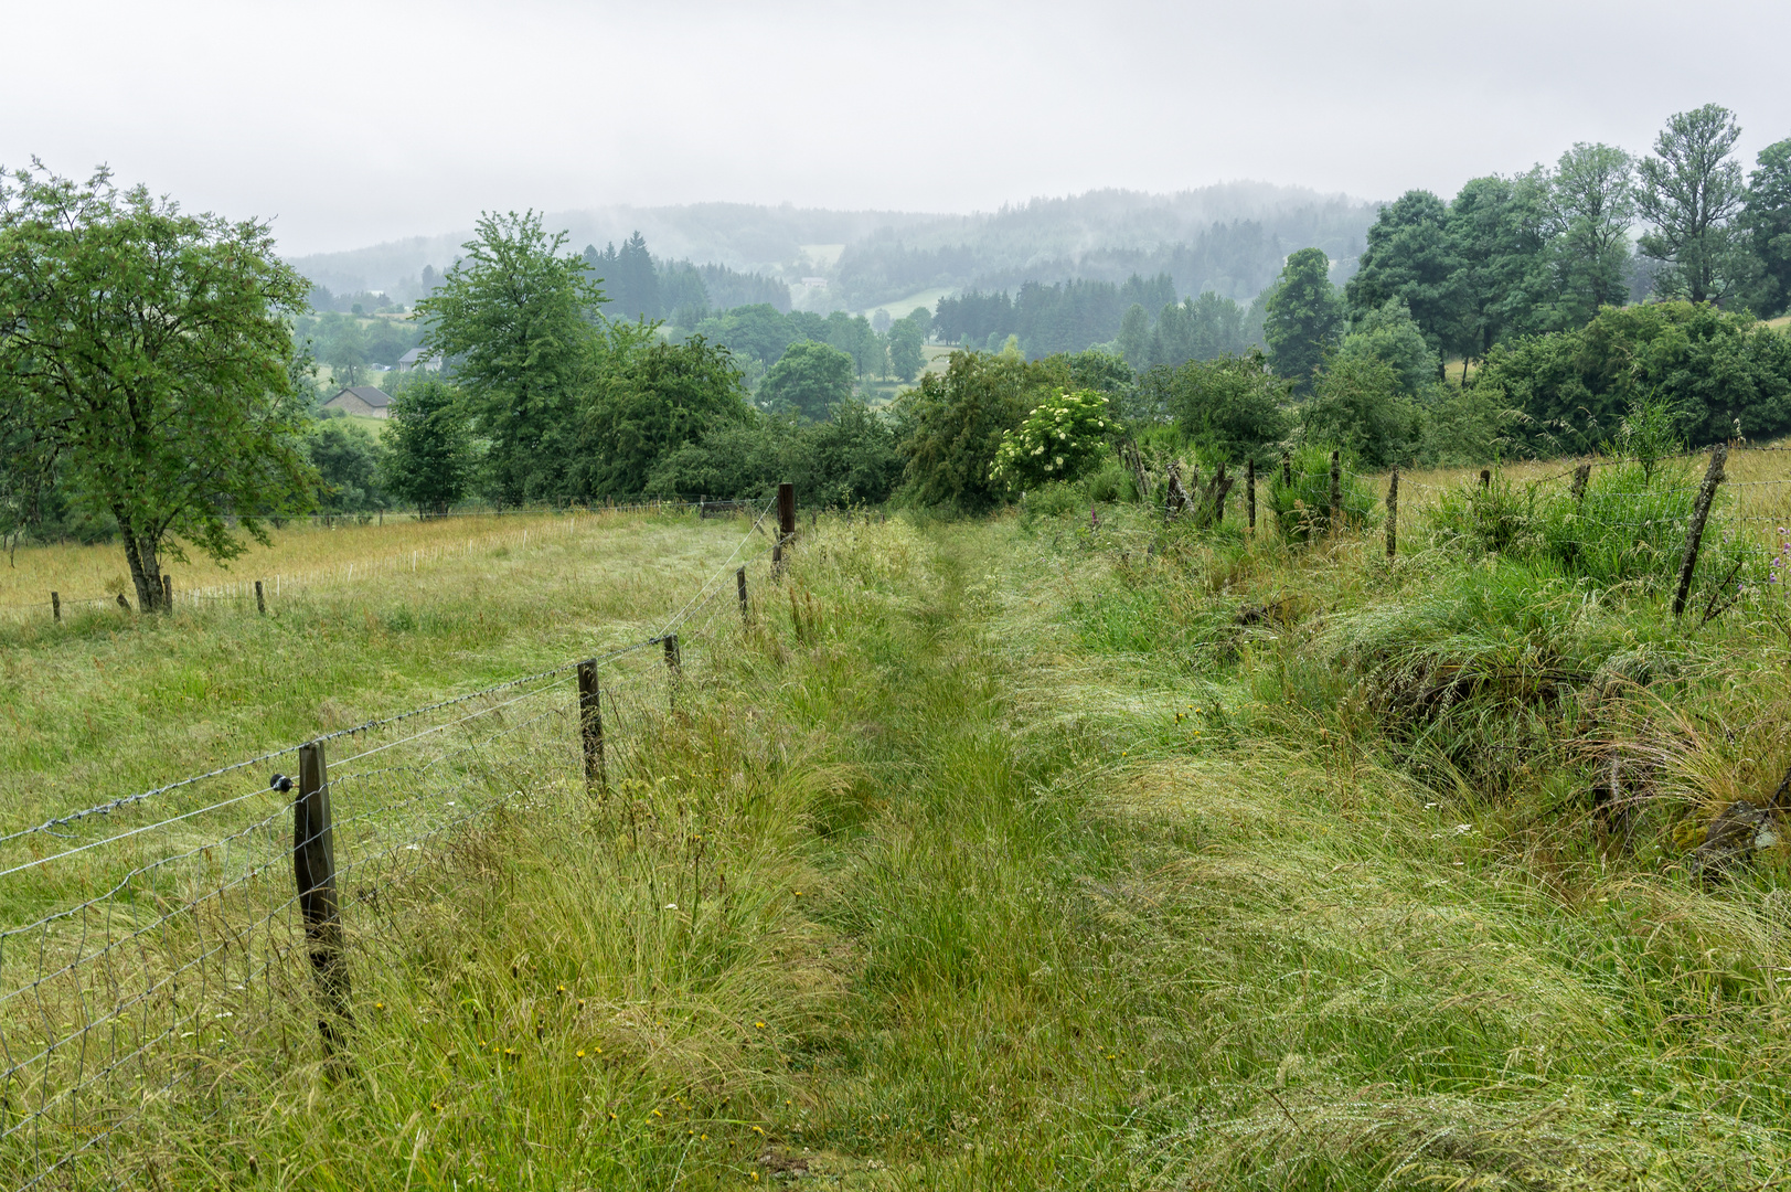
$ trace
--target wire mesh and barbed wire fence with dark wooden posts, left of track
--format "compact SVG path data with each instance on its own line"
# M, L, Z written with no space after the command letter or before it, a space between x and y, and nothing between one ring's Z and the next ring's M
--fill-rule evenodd
M0 835L0 1187L138 1187L235 1074L344 1063L410 900L478 880L507 814L645 778L686 651L793 538L783 486L643 640Z

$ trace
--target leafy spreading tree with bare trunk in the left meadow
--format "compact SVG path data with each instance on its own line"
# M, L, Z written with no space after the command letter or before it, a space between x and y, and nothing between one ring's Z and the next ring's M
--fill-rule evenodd
M245 550L233 522L308 507L290 319L310 283L267 224L186 215L99 170L0 181L0 418L9 464L57 468L118 522L138 606L163 556Z

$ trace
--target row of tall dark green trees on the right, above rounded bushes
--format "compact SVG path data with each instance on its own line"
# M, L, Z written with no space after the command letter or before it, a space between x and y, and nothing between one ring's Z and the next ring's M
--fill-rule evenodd
M1739 136L1734 113L1707 104L1675 115L1641 158L1580 143L1553 167L1476 177L1451 201L1411 190L1368 229L1349 315L1402 303L1433 350L1481 360L1650 296L1782 312L1791 140L1748 172Z

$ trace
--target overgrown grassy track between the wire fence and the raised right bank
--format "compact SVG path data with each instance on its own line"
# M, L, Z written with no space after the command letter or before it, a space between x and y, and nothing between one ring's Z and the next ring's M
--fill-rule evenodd
M1424 572L1066 531L808 536L609 799L491 825L367 939L353 1079L247 1058L215 1077L236 1111L170 1108L133 1162L394 1190L1791 1170L1778 918L1420 787L1322 635L1213 645L1241 600L1417 602Z

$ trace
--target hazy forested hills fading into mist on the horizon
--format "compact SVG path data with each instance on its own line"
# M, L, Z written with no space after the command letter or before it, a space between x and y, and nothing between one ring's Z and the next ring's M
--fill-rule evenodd
M1091 190L996 212L835 212L693 203L548 212L570 251L621 244L639 231L654 258L716 263L799 289L799 305L863 310L928 290L1014 289L1066 278L1168 272L1182 294L1254 298L1300 247L1320 247L1336 276L1354 269L1377 204L1302 186L1223 183L1177 194ZM448 267L471 228L340 253L292 258L335 292L381 290L412 301L423 269Z

